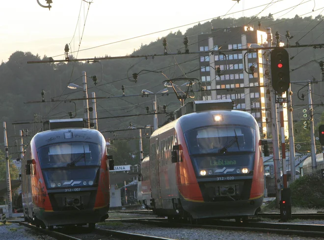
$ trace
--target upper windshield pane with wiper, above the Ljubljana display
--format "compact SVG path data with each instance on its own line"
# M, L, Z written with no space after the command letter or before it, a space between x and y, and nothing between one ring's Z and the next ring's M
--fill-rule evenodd
M254 152L255 130L246 126L213 126L185 134L189 154Z

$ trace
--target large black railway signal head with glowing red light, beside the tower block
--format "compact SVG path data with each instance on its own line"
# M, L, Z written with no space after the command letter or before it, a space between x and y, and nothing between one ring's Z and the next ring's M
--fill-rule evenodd
M284 48L274 48L270 59L272 87L277 93L284 93L290 87L288 52Z

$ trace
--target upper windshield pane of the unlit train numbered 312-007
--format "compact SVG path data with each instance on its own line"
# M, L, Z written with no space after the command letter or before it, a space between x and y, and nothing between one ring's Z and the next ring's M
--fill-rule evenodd
M101 146L90 143L54 144L38 149L41 168L99 166Z

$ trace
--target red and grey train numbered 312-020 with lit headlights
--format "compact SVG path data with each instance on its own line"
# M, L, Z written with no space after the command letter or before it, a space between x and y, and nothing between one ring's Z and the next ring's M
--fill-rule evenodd
M254 215L264 195L256 120L242 111L207 110L157 129L150 138L150 180L161 216Z

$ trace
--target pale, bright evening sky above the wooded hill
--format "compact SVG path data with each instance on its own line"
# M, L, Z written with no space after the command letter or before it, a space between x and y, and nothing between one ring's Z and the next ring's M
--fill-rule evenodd
M70 44L70 51L77 51L80 45L81 51L73 53L77 58L123 56L170 31L181 30L184 33L197 22L204 23L204 20L226 13L225 18L253 16L260 12L258 16L267 16L301 3L296 8L274 14L276 19L293 18L296 14L309 12L304 16L315 17L324 9L324 0L92 0L91 4L88 3L91 0L52 1L50 11L41 7L37 0L1 3L1 61L7 62L10 55L18 50L60 60L64 58L65 44ZM39 2L47 5L46 0ZM256 6L260 7L246 10ZM189 25L179 27L186 24ZM109 44L165 29L169 30ZM106 46L94 48L100 45ZM86 48L92 49L83 50Z

